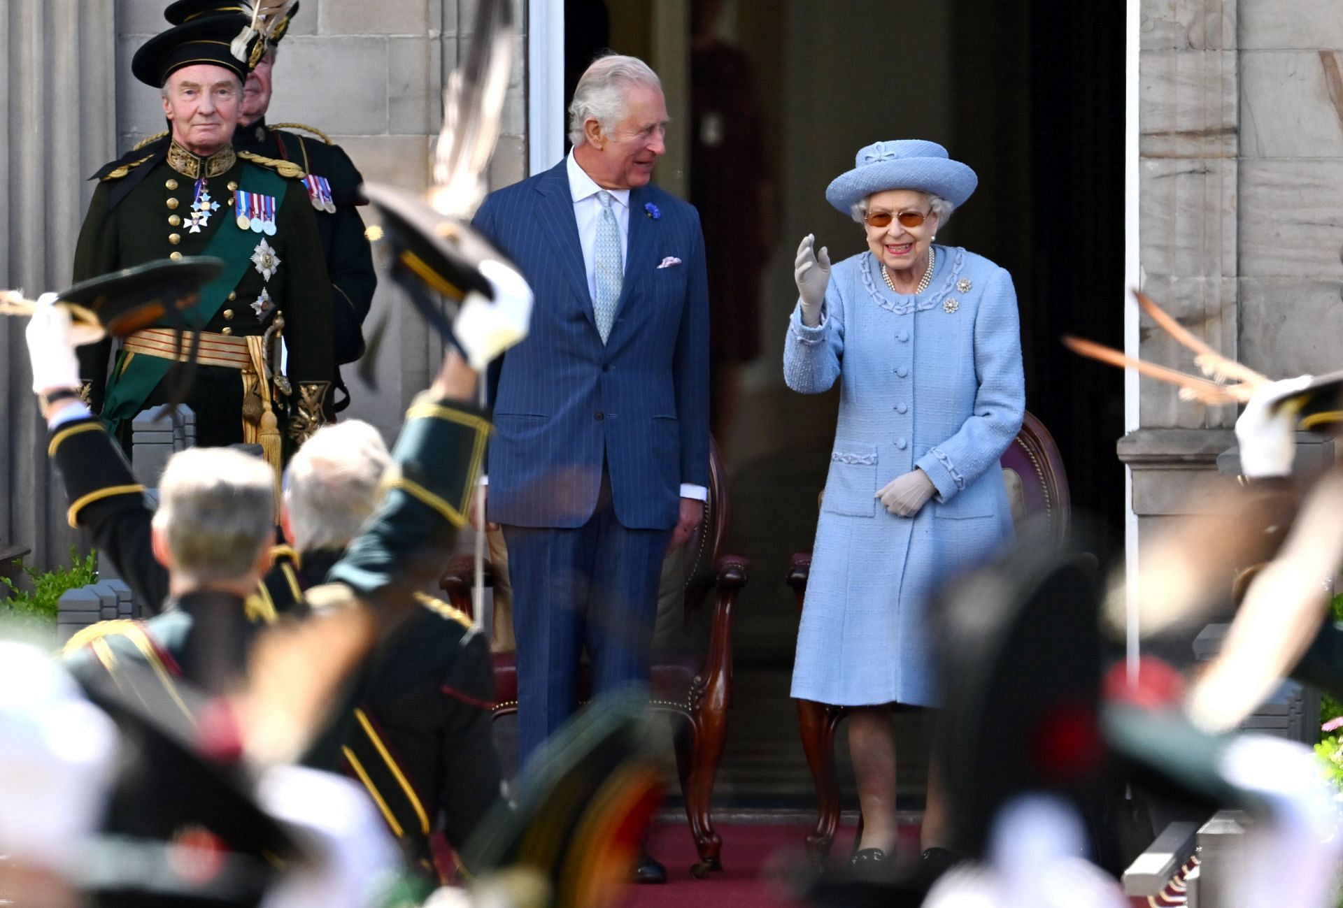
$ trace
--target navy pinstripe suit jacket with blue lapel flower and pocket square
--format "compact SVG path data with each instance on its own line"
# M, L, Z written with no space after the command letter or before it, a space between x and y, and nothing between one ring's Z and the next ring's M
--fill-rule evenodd
M624 282L604 346L563 161L486 196L474 224L536 294L530 334L493 373L490 519L583 526L604 457L622 524L674 526L681 483L709 484L709 290L698 212L651 185L631 190ZM680 264L658 267L672 256Z

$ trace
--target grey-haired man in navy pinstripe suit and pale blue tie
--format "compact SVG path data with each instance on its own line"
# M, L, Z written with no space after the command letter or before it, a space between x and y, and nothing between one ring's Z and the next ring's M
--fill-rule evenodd
M520 763L576 708L584 649L595 692L647 680L662 559L706 496L704 236L649 185L666 121L653 70L599 58L569 105L569 156L475 216L536 292L493 376L485 487L514 590Z

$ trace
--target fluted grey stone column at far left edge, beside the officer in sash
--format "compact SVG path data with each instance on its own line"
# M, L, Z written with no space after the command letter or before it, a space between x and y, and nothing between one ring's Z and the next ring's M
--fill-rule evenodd
M30 296L70 284L87 177L113 157L114 39L113 0L0 4L0 280ZM34 561L51 565L74 534L47 463L26 325L0 318L0 539L31 545Z

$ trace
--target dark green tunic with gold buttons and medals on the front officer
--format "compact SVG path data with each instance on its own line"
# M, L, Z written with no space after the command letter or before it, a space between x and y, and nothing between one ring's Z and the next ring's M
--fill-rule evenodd
M192 160L196 168L210 174L199 184L180 166L180 162L191 164ZM283 176L286 173L290 176ZM231 149L204 162L189 152L179 153L168 144L133 152L98 173L101 182L75 249L75 280L156 259L220 255L226 260L224 274L230 275L226 279L230 286L214 299L207 288L197 304L199 325L205 331L234 337L261 335L275 313L283 313L287 376L295 397L305 386L325 396L334 369L332 291L317 219L302 182L293 176L295 173L294 166L244 160ZM234 190L248 186L275 200L273 235L238 225ZM193 225L193 205L201 204L208 204L212 211L204 225ZM278 264L274 264L275 260ZM171 323L164 321L163 326L169 327ZM167 359L118 354L113 384L125 382L122 392L136 384L149 388L129 400L126 394L113 392L114 404L120 401L120 405L115 412L105 408L110 390L103 381L109 350L110 342L105 341L82 347L79 354L81 373L90 382L94 409L105 420L117 425L133 418L144 406L168 400L172 389L167 382L153 381ZM242 440L243 386L238 369L200 366L185 402L196 412L197 444Z

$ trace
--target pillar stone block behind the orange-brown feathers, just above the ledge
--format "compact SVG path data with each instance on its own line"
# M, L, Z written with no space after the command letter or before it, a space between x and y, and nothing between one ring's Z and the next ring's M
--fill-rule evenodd
M1148 278L1143 292L1223 355L1237 358L1236 279L1228 278ZM1194 354L1174 341L1147 315L1139 322L1139 355L1162 366L1199 374ZM1218 428L1236 421L1234 406L1205 406L1179 398L1179 389L1155 378L1140 378L1139 421L1142 425L1178 428Z

